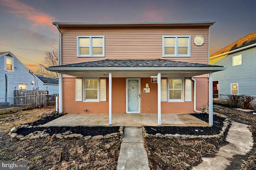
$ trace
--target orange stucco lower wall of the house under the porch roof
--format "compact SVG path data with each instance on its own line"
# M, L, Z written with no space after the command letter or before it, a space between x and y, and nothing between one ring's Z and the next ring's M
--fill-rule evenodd
M196 109L208 104L208 78L196 79ZM75 78L63 78L63 112L66 113L108 113L108 78L106 102L76 102ZM150 78L141 78L141 113L157 113L157 83ZM143 88L149 84L150 93ZM194 90L192 82L192 102L161 102L162 113L194 113ZM112 78L112 113L126 112L126 78ZM87 109L85 112L84 109Z

